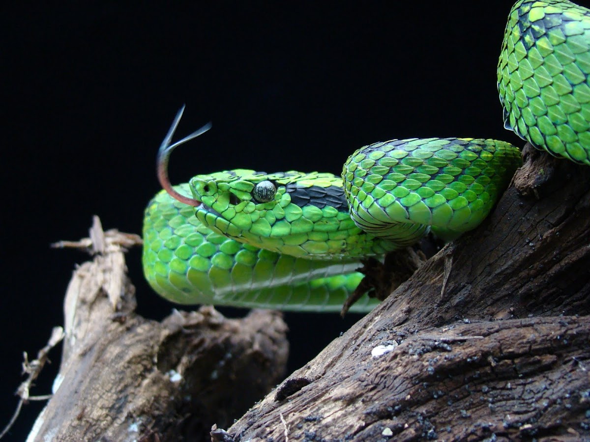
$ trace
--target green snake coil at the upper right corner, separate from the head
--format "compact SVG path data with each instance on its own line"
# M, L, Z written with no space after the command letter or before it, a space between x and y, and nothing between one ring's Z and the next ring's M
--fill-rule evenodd
M590 165L590 11L519 1L498 63L504 126L539 149Z

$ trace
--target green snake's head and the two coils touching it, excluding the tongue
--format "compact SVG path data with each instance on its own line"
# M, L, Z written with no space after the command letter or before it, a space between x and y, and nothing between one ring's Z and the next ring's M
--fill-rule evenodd
M519 164L519 150L503 141L431 138L359 149L345 181L296 171L198 175L176 190L200 206L164 190L148 205L145 275L182 304L339 311L362 278L360 258L414 243L430 226L445 236L472 229ZM365 296L350 311L374 305Z

